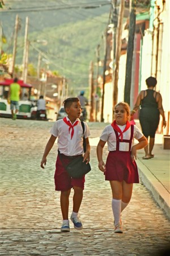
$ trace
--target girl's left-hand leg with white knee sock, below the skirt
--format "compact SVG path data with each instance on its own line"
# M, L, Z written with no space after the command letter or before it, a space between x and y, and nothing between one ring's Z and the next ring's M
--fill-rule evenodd
M114 226L120 224L121 218L121 199L122 199L122 182L117 180L110 181L112 188L112 210L114 216Z

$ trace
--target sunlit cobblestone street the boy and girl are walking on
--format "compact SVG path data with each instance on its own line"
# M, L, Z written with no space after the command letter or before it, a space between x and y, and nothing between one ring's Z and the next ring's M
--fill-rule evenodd
M169 221L141 183L134 185L131 202L122 213L124 233L113 233L111 189L96 159L104 123L89 123L92 171L86 176L80 208L84 228L75 230L70 223L71 232L61 233L60 193L54 191L53 180L57 144L45 170L40 168L52 122L0 121L1 255L163 255L169 245Z

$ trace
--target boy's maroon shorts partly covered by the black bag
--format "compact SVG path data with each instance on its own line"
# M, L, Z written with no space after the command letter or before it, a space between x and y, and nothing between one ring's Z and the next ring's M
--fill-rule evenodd
M71 162L71 158L62 158L62 161L67 165ZM68 191L73 187L79 187L84 189L85 175L80 179L73 179L68 174L59 156L57 156L56 160L56 171L54 174L54 182L56 191Z

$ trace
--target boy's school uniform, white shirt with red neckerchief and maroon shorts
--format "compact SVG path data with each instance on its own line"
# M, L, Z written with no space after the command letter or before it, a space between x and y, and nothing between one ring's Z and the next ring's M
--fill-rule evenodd
M80 119L77 118L73 123L74 127L70 127L69 118L56 121L50 130L50 134L58 138L58 150L62 155L62 161L65 166L78 155L83 155L83 135L85 138L90 136L90 130L86 122L84 122L84 134ZM54 182L56 191L67 191L74 186L84 189L85 176L80 179L73 179L65 170L59 156L56 160L56 171L54 174Z

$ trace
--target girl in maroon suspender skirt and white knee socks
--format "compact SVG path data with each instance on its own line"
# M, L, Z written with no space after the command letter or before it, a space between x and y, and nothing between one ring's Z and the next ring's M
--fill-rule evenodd
M97 144L99 169L104 172L112 189L112 210L114 233L122 232L121 212L130 202L133 183L139 183L138 168L135 162L137 150L147 145L147 139L135 125L130 125L130 107L120 102L114 107L114 121L103 130ZM134 138L139 143L134 144ZM103 148L108 143L109 154L103 161Z

